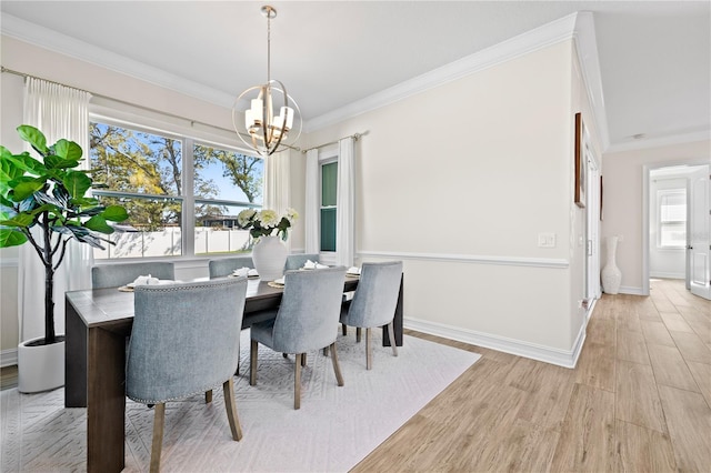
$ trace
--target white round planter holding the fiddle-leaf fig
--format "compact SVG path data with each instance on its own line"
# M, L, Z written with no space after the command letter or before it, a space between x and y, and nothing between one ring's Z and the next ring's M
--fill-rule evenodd
M27 340L18 345L18 391L37 393L64 385L64 340L51 345L28 346L42 340Z

